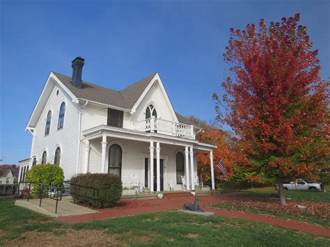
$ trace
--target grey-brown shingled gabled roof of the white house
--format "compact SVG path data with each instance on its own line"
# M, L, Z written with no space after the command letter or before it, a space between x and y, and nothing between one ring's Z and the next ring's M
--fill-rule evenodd
M127 110L132 109L134 104L143 94L144 90L146 90L150 81L152 81L157 74L157 72L150 74L148 77L133 83L131 86L128 86L123 90L116 91L87 81L82 81L82 88L76 88L71 83L71 77L57 72L53 73L78 99L86 99ZM175 115L177 116L179 122L186 125L194 125L189 118L185 118L177 112L175 112Z

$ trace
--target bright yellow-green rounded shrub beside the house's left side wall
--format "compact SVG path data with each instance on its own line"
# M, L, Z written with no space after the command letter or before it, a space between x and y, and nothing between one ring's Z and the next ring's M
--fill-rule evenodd
M26 181L40 182L45 185L44 188L40 188L38 184L34 184L33 191L36 191L37 193L39 193L40 190L44 193L47 185L61 187L63 185L63 180L63 169L60 166L53 164L36 165L26 173Z

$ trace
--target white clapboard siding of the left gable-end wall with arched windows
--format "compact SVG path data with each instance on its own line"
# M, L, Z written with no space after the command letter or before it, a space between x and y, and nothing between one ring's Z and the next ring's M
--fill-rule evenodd
M59 90L58 95L56 91ZM58 113L62 102L65 102L65 117L63 129L57 129ZM45 136L46 118L48 111L52 111L50 132ZM79 109L72 99L60 88L55 87L52 95L42 111L33 135L31 157L36 157L41 162L42 153L46 150L47 162L54 164L56 148L61 148L61 164L65 180L70 179L77 169L77 154L79 141Z

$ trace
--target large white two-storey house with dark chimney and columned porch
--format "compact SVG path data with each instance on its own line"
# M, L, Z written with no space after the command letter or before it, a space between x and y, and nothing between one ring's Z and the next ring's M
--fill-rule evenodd
M33 134L29 166L58 164L70 180L77 173L132 176L150 191L187 189L196 183L196 154L215 145L195 140L202 129L176 113L156 72L116 91L81 80L84 58L72 61L72 77L51 72L26 130ZM26 167L26 164L24 165Z

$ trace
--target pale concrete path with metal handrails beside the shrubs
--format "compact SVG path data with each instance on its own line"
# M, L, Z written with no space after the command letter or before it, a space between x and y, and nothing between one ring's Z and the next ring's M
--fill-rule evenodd
M56 200L42 198L41 207L39 207L39 202L39 199L30 199L29 202L27 200L16 200L15 205L51 217L93 214L97 212L93 209L88 209L87 207L75 205L70 196L65 196L62 200L58 200L57 214L55 214Z

